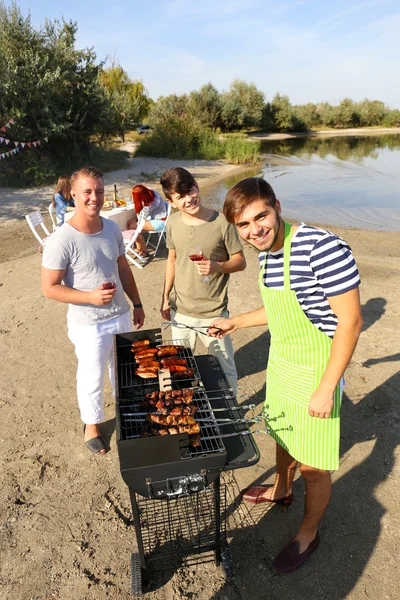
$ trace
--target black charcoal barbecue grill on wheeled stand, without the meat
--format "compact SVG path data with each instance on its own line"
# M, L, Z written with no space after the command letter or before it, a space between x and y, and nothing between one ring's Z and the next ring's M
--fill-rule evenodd
M191 389L200 424L197 444L188 433L153 435L149 429L146 394L158 392L160 384L158 378L138 376L131 352L132 342L144 339L150 340L150 348L181 347L179 358L186 360L190 376L174 379L172 374L164 385L175 391ZM248 423L238 418L237 398L219 361L209 355L194 357L183 342L162 340L160 329L116 335L114 351L117 447L138 543L138 553L131 557L133 596L142 595L142 576L150 563L163 559L171 563L171 558L213 552L216 566L222 562L230 576L226 492L220 475L257 463L259 451Z

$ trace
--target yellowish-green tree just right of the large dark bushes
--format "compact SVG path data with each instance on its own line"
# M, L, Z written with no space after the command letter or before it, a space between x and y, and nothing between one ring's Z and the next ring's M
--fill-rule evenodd
M100 74L100 80L109 102L104 133L117 131L125 139L125 132L138 125L149 112L147 90L141 81L129 79L120 65L112 64Z

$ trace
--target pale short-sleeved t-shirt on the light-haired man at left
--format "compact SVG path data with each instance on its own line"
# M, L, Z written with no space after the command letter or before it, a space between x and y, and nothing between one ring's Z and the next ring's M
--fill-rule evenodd
M89 292L110 281L112 275L115 277L117 291L110 304L68 305L68 323L74 325L103 323L129 311L118 275L117 260L125 254L122 234L113 221L102 218L102 222L103 229L93 234L65 223L50 236L43 250L43 267L66 269L63 282L68 287Z

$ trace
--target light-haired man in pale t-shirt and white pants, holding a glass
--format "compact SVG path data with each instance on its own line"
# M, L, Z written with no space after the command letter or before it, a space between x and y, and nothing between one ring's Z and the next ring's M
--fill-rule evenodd
M68 337L78 358L77 395L86 446L106 452L100 435L103 381L109 365L114 387L113 336L139 329L144 312L118 226L100 216L102 173L83 167L71 176L75 213L48 239L43 251L42 288L46 298L68 303ZM125 292L125 294L124 294Z

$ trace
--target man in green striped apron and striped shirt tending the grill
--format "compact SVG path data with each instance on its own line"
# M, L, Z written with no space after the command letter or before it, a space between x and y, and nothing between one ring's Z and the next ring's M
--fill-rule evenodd
M319 544L318 524L331 494L331 470L339 468L343 373L362 327L359 275L349 246L329 231L290 225L271 186L249 177L227 194L224 214L243 240L260 251L259 286L264 306L217 319L210 335L267 325L271 334L264 412L276 441L273 486L244 491L247 502L292 501L299 466L305 479L303 522L273 567L300 567Z

